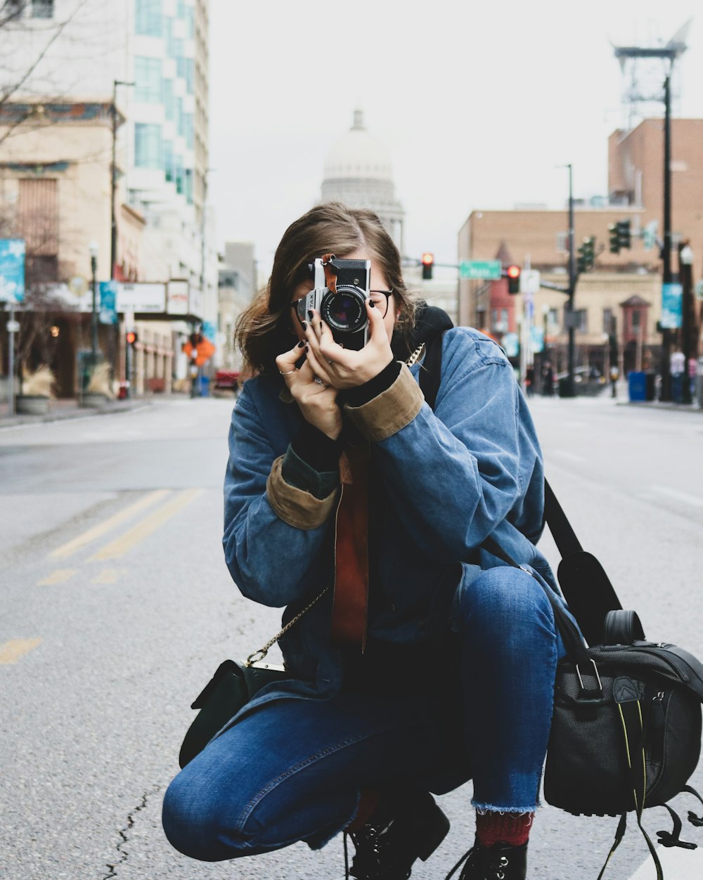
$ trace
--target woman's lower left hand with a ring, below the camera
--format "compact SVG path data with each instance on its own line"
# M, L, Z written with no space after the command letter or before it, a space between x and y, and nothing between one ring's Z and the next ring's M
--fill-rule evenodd
M297 368L296 363L304 353L305 363ZM337 406L338 391L331 385L330 377L311 354L310 348L304 341L298 342L294 348L279 355L275 363L293 400L300 407L305 421L336 440L341 434L341 410ZM316 378L319 382L315 381Z

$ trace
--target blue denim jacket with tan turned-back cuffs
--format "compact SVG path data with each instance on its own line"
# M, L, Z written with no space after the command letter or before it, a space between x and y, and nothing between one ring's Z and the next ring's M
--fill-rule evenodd
M467 327L447 331L434 412L417 385L421 369L421 362L403 366L386 392L356 410L345 407L370 439L386 502L370 584L384 601L369 621L370 638L383 642L422 642L448 626L462 585L481 568L502 564L480 548L489 534L553 583L535 546L544 508L538 439L502 348ZM280 383L263 376L248 380L238 398L223 546L243 595L285 607L285 623L333 583L337 490L320 500L282 480L282 458L303 419L283 398ZM284 695L338 692L341 655L329 640L331 607L329 589L282 637L296 678L267 686L245 711Z

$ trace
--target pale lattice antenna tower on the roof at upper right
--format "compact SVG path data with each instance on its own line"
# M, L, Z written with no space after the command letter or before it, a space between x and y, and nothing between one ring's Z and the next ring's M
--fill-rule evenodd
M679 27L663 46L613 46L620 70L625 77L622 94L623 127L632 130L637 121L648 115L660 116L664 99L662 83L674 70L674 62L688 48L686 37L692 19ZM661 42L661 40L660 40ZM681 95L680 83L672 83L671 99Z

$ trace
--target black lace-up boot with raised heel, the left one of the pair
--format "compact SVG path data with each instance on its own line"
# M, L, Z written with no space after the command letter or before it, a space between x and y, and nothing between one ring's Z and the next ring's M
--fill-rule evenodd
M349 873L356 880L406 880L415 860L427 862L448 831L449 819L427 792L380 803L366 825L349 834L356 850Z

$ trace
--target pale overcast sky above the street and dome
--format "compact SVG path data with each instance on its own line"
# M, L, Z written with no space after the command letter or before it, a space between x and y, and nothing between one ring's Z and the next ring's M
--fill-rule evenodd
M625 80L612 45L666 42L692 18L677 115L703 117L703 12L684 0L429 4L212 0L210 197L218 246L282 232L319 199L355 106L392 160L406 253L456 260L473 209L605 194ZM663 80L663 75L662 75ZM663 111L662 111L663 112ZM675 151L675 150L674 150Z

